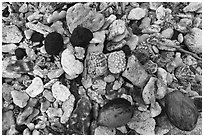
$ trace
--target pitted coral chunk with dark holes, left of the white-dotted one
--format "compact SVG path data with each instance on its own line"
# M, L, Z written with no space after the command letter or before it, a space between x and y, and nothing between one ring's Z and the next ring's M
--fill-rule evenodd
M107 70L107 60L102 52L93 52L88 56L88 74L95 78L103 75Z

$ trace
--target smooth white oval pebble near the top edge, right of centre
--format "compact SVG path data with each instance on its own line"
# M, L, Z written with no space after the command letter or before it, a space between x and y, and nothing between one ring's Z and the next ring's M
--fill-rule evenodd
M129 20L141 20L146 15L146 11L142 8L134 8L130 11L128 15Z

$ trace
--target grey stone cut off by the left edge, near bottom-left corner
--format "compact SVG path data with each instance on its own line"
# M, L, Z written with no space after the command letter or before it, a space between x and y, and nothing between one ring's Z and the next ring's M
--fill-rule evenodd
M13 111L2 112L2 131L8 130L11 125L15 125Z

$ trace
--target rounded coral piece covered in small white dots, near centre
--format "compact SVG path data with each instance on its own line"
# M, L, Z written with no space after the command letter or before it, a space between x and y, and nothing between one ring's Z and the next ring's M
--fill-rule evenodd
M111 73L120 73L125 70L125 66L125 53L122 50L110 53L108 56L108 68Z

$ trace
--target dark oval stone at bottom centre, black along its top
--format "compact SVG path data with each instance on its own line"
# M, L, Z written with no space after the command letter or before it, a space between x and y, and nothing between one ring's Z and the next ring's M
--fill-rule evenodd
M133 116L131 103L123 98L116 98L105 104L99 111L98 124L106 127L120 127L127 124Z

